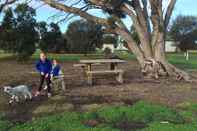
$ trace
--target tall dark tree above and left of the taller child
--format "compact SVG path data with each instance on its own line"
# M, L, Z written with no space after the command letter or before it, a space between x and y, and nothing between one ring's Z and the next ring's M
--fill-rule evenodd
M27 59L35 52L35 43L38 41L36 31L36 12L27 4L20 4L14 10L16 14L17 45L14 52L18 59Z

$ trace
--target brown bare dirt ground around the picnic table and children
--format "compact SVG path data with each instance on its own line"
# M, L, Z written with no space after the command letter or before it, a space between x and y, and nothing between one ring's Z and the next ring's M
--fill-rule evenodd
M8 96L0 88L0 112L14 122L24 122L54 113L68 111L94 110L107 104L133 104L146 100L175 107L183 102L197 102L197 83L177 82L172 79L160 81L144 80L136 61L129 61L119 66L125 70L124 84L115 78L97 76L94 85L85 84L82 69L73 67L74 63L61 63L65 73L66 92L55 91L53 97L33 98L32 101L8 105ZM94 68L109 68L108 65ZM34 62L19 64L13 60L0 61L0 87L5 85L26 84L35 91L39 76L35 72ZM193 71L197 74L197 71ZM54 89L53 89L54 90Z

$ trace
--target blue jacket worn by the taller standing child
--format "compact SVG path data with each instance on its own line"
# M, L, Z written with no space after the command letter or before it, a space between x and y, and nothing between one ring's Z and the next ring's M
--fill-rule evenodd
M52 64L51 61L46 59L44 62L39 60L36 63L36 69L39 72L44 72L44 74L50 74L51 70L52 70Z

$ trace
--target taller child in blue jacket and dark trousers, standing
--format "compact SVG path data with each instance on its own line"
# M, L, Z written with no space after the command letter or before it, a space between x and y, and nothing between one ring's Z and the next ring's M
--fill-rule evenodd
M40 95L40 91L42 90L42 86L44 81L47 83L48 89L48 97L51 97L51 80L50 80L50 72L52 70L51 61L47 59L45 53L40 53L40 60L36 63L36 69L40 73L40 86L35 96Z

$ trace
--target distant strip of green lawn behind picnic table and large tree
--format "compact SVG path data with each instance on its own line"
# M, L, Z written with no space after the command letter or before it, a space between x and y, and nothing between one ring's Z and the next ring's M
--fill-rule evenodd
M135 60L135 56L127 51L116 51L116 55L125 60ZM78 62L80 59L101 59L104 54L48 54L50 59L57 59L62 62ZM13 58L11 54L0 53L0 59ZM167 58L170 63L182 69L197 69L197 52L190 53L189 60L187 61L183 53L168 53ZM33 60L39 59L39 52L33 54Z

